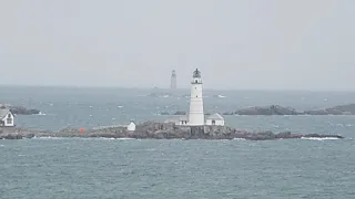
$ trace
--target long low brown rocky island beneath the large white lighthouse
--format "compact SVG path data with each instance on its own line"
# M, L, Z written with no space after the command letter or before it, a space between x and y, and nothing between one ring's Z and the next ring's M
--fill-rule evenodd
M59 133L34 133L33 130L17 128L0 128L0 138L21 139L31 137L106 137L106 138L139 138L139 139L234 139L243 138L248 140L273 140L292 139L302 137L334 137L343 138L338 135L318 134L292 134L284 132L274 134L265 130L250 133L237 130L226 126L201 126L187 127L176 126L174 123L145 122L136 125L134 132L129 132L125 127L111 127L103 129L90 129L84 133L79 129L65 128Z

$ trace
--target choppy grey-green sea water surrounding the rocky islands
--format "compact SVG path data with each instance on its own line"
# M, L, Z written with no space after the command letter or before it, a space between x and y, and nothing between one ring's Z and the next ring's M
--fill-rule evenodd
M185 97L153 90L0 87L0 103L41 109L17 125L57 132L165 119ZM187 94L179 91L179 94ZM205 112L280 104L300 111L355 103L355 93L205 91ZM226 97L214 97L224 95ZM227 116L248 130L346 139L0 140L0 198L355 198L354 116Z

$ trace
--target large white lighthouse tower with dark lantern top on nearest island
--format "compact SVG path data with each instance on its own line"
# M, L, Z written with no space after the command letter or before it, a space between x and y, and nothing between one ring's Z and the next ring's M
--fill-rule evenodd
M196 69L193 72L191 82L191 98L190 98L190 113L189 126L203 126L203 100L202 100L202 78L201 72Z

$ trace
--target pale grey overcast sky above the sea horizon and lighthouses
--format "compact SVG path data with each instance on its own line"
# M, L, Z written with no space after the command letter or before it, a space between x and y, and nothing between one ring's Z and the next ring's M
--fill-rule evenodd
M0 84L355 91L354 0L1 0Z

